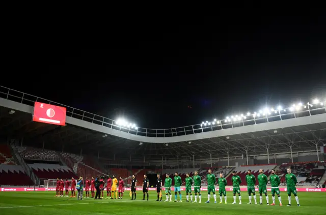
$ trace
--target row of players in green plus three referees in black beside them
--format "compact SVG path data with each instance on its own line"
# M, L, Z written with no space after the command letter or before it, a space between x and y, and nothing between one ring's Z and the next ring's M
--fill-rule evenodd
M236 172L233 171L232 172L232 185L233 185L233 203L232 204L236 204L236 194L238 195L239 198L239 204L242 204L242 197L241 197L241 191L240 191L240 184L242 183L241 178L239 176L236 175ZM214 203L216 203L216 194L215 194L215 182L216 182L216 178L215 175L212 174L211 170L208 170L208 174L206 176L207 178L207 198L208 200L205 203L209 203L210 202L210 193L213 194L213 198L214 198ZM263 197L262 194L265 195L266 198L266 202L267 205L269 205L269 199L268 199L268 195L267 195L267 182L268 182L268 178L265 174L263 174L263 170L260 169L259 170L259 175L258 175L258 192L259 192L259 204L262 205L263 203ZM134 176L133 176L134 179ZM275 170L271 170L271 175L269 176L269 180L271 183L271 195L272 195L272 200L273 203L271 205L275 205L275 194L278 196L279 199L279 203L280 206L282 206L282 199L280 196L280 189L279 189L279 185L281 183L281 180L279 178L278 175L276 175ZM294 195L297 206L300 206L299 203L299 199L297 197L297 193L296 193L296 177L294 174L291 173L291 169L287 168L287 174L285 176L285 180L287 183L287 195L288 195L288 205L287 206L291 206L291 194ZM136 181L137 182L137 181ZM256 184L256 178L254 175L251 174L251 170L248 170L248 174L246 175L246 182L247 182L247 190L248 190L248 195L249 195L249 203L248 204L252 204L252 196L254 197L254 201L255 204L257 204L257 199L256 199L256 190L255 190L255 184ZM193 202L193 196L192 196L192 185L194 183L194 193L195 193L195 201L197 202L197 197L199 198L199 203L201 203L201 192L200 192L200 188L201 188L201 178L200 176L198 176L198 172L195 171L195 175L193 178L189 177L189 174L186 174L186 178L185 178L185 193L186 193L186 202L189 202L189 195L190 195L190 199L191 202ZM147 195L147 201L148 201L148 184L149 181L147 179L147 176L144 175L144 180L143 180L143 199L145 200L145 194ZM180 187L181 187L182 181L181 181L181 177L178 176L178 173L175 173L175 177L174 177L174 195L175 195L175 202L182 202L182 195L180 192ZM218 185L219 185L219 194L220 194L220 202L219 204L222 204L222 200L223 200L223 196L224 196L224 201L225 204L227 204L227 196L226 196L226 189L225 186L227 185L227 180L226 178L223 177L223 173L220 173L220 178L218 179ZM165 194L166 194L166 201L172 201L172 193L171 193L171 186L172 186L172 179L170 178L170 176L167 174L166 175L166 179L165 179ZM160 179L159 174L157 175L157 181L156 181L156 192L157 192L157 200L156 201L161 201L162 197L161 197L161 188L162 187L162 180ZM131 191L132 191L132 196L133 194L135 195L135 185L134 183L132 183L131 185ZM180 200L177 200L177 194L179 194L179 198ZM197 196L198 194L198 196ZM159 200L160 197L160 200ZM132 198L133 199L133 198Z

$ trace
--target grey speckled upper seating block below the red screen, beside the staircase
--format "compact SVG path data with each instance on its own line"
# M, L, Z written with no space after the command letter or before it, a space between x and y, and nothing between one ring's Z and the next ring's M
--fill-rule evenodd
M57 152L32 147L17 147L24 160L60 161Z

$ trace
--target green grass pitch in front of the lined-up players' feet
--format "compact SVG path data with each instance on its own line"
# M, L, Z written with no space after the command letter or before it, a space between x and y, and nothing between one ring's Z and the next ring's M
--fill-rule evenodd
M166 200L162 196L162 202L155 202L157 196L155 192L149 193L149 201L141 201L142 193L138 192L137 200L130 200L129 192L125 192L122 200L91 198L77 201L76 198L55 197L53 192L1 192L0 211L1 214L209 214L209 213L260 213L260 214L325 214L326 193L298 193L301 207L296 206L294 196L292 196L292 206L287 207L288 199L286 193L281 193L283 206L279 206L276 198L276 206L267 206L263 197L263 205L248 205L248 195L242 192L242 205L231 204L233 202L232 193L227 193L228 204L214 204L211 195L209 204L207 192L203 193L202 203L186 202L185 194L182 194L182 202L163 202ZM271 195L269 194L271 203ZM104 194L106 197L106 193ZM179 196L178 196L179 198ZM172 194L174 201L174 194ZM218 196L218 202L220 197ZM259 202L259 197L257 196ZM224 198L223 198L224 202ZM239 202L237 198L237 203ZM253 200L254 202L254 200Z

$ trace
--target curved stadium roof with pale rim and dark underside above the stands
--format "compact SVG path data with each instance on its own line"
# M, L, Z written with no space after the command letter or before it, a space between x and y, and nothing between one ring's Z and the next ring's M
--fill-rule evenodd
M13 93L14 92L14 93ZM247 121L231 122L224 125L209 127L198 125L199 128L191 126L192 131L187 134L187 127L183 129L183 135L178 134L178 129L170 129L166 137L155 130L155 137L148 132L146 136L136 135L127 129L114 123L107 123L105 126L94 121L96 115L87 116L87 112L82 113L83 120L78 117L69 116L67 107L67 125L57 126L32 122L33 103L42 99L11 90L11 93L0 93L0 134L3 137L16 139L23 138L24 145L79 153L83 149L85 154L97 155L113 158L132 158L159 160L161 157L175 159L177 156L193 157L195 159L207 159L210 155L218 157L239 157L248 152L253 154L277 154L283 152L316 151L318 146L326 144L326 109L325 106L311 109L295 111L294 113L279 114L282 120L276 115L264 117L259 122L248 117ZM14 95L14 96L13 96ZM53 105L60 105L50 102ZM27 104L27 105L26 105ZM60 105L61 106L61 105ZM15 110L14 113L11 110ZM295 114L295 115L294 115ZM79 114L80 115L80 114ZM292 117L289 117L292 115ZM293 117L294 115L294 117ZM273 117L272 117L273 116ZM89 118L93 118L89 122ZM102 117L102 122L105 122ZM282 117L281 117L282 118ZM274 122L273 122L274 121ZM254 123L252 123L254 122ZM223 123L223 122L222 122ZM248 125L246 125L248 123ZM251 123L251 124L250 124ZM92 126L91 126L92 125ZM219 127L220 126L220 127ZM231 127L228 127L231 126ZM196 130L195 130L196 129ZM168 129L167 129L168 130ZM180 129L181 130L181 129ZM175 131L175 132L174 132ZM137 131L136 131L137 132ZM168 134L171 135L168 135Z

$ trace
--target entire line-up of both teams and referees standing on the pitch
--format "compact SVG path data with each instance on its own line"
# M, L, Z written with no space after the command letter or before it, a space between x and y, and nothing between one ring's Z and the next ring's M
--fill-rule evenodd
M239 176L236 175L236 172L233 171L232 172L232 185L233 185L233 203L232 204L236 204L236 194L238 195L239 198L239 204L242 204L242 197L241 197L241 191L240 191L240 184L242 183L241 178ZM215 175L212 174L211 170L208 170L208 174L206 176L207 178L207 198L208 200L205 203L210 203L210 193L213 194L213 198L214 198L214 203L216 203L216 194L215 194L215 182L216 182L216 178ZM258 191L259 191L259 199L260 202L259 204L263 204L263 197L262 194L265 195L266 198L266 202L267 205L269 205L269 198L267 195L267 182L268 182L268 178L265 174L263 174L263 170L260 169L259 170L259 175L258 175ZM271 183L271 195L272 195L272 200L273 200L273 204L271 205L275 205L275 194L278 196L278 200L280 203L280 206L282 206L282 199L280 196L280 189L279 189L279 185L281 183L281 180L279 178L278 175L276 175L275 170L271 170L271 175L269 177L270 183ZM296 193L296 177L294 174L291 173L291 169L287 168L287 174L285 176L285 180L287 183L287 194L288 194L288 205L287 206L291 206L291 194L294 195L297 206L300 206L299 203L299 199L297 197L297 193ZM103 182L103 178L100 179L100 181ZM256 178L254 175L251 174L251 170L248 170L248 174L246 175L246 182L247 182L247 189L248 189L248 195L249 195L249 203L248 204L252 204L252 196L254 197L254 201L255 204L257 204L257 199L256 199L256 191L255 191L255 183L256 183ZM58 186L59 183L59 186ZM194 183L194 193L195 193L195 201L193 202L193 195L192 195L192 185ZM115 178L115 175L113 175L113 179L111 179L111 177L109 176L107 178L107 183L106 183L106 192L107 192L107 197L106 199L113 199L114 198L114 193L116 194L116 199L117 199L117 184L118 184L118 180ZM182 202L182 195L181 195L181 184L182 184L182 180L181 177L178 175L178 173L175 173L175 177L174 177L174 194L175 194L175 202ZM63 196L63 185L64 182L63 180L59 180L57 181L57 196L58 196L58 192L59 196ZM75 197L75 185L76 182L75 180L72 178L72 183L71 183L71 197ZM223 173L220 173L220 178L218 179L218 185L219 185L219 194L220 194L220 202L219 204L222 204L222 200L223 200L223 196L224 196L224 200L225 200L225 204L227 204L227 197L226 197L226 189L225 186L227 185L227 181L226 178L223 177ZM88 178L86 178L86 186L85 186L85 190L86 190L86 198L89 198L89 187L91 186L91 193L92 193L92 198L94 198L94 190L95 190L95 180L92 177L92 181L88 180ZM137 179L135 179L135 176L132 175L132 179L131 179L131 200L135 200L136 199L136 186L137 186ZM171 186L172 186L172 179L170 178L170 176L167 174L166 175L166 179L165 179L165 194L166 194L166 200L165 202L172 202L172 192L171 192ZM147 175L144 175L144 180L143 180L143 201L145 200L145 197L147 197L147 201L148 201L148 187L149 187L149 180L147 179ZM195 175L193 178L189 177L189 174L186 174L186 178L185 178L185 192L186 192L186 202L189 202L189 196L191 199L191 202L196 203L197 202L197 198L199 198L199 203L201 203L201 192L200 192L200 188L201 188L201 177L198 176L198 172L195 171ZM69 195L69 181L66 181L66 197ZM101 196L100 198L103 198L103 189L104 189L104 183L101 183L100 185L100 191L101 191ZM161 190L162 190L162 180L160 178L160 175L157 174L157 180L156 180L156 192L157 192L157 200L156 201L162 201L162 195L161 195ZM119 199L122 199L123 197L123 193L124 193L124 182L122 180L122 178L120 177L119 180ZM177 194L179 194L179 198L180 200L177 200ZM121 195L121 197L120 197Z

